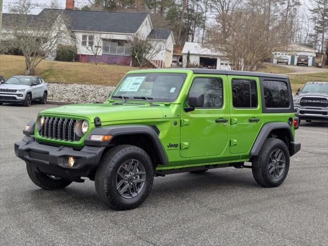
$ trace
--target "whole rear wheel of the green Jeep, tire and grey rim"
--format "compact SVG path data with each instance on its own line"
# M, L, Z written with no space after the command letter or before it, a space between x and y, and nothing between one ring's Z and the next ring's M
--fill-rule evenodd
M278 138L268 138L252 161L256 182L263 187L278 187L285 180L290 165L286 144Z

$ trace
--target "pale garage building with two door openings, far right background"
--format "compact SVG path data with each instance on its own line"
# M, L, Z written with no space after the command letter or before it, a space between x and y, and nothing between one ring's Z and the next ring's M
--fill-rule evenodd
M304 46L301 44L289 44L283 51L272 52L271 63L277 63L279 56L288 57L288 65L297 65L297 58L299 55L306 55L309 58L308 66L315 66L316 49Z

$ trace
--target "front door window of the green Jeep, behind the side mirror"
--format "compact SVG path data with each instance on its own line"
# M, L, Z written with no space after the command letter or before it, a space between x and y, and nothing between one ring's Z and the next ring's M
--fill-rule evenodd
M223 104L222 80L220 78L195 78L190 92L204 93L203 108L221 108Z

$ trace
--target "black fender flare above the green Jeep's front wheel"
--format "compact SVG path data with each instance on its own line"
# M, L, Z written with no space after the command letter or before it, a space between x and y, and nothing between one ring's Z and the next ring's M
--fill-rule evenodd
M94 141L90 140L91 135L112 135L113 137L109 141ZM144 134L150 137L155 146L157 154L159 156L160 162L162 165L167 165L168 157L166 152L158 138L158 135L154 128L151 126L146 125L117 125L117 126L104 126L104 127L97 127L94 128L88 136L85 138L84 143L88 146L109 146L111 140L117 136L122 135L137 135L137 134Z

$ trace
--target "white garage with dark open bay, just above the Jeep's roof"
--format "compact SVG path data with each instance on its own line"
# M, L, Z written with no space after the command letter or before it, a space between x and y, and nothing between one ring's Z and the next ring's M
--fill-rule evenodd
M227 57L218 51L203 47L200 43L186 42L182 49L182 67L187 66L187 55L190 54L189 64L192 67L231 70Z

